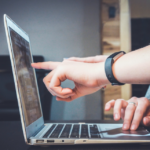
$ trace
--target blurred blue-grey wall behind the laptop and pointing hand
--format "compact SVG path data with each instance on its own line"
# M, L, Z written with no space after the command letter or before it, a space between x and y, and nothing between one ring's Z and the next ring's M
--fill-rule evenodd
M100 54L99 0L1 0L0 55L8 54L4 13L29 33L33 55L43 55L47 61ZM73 85L67 81L63 86ZM100 118L100 92L71 103L57 102L53 97L53 120Z

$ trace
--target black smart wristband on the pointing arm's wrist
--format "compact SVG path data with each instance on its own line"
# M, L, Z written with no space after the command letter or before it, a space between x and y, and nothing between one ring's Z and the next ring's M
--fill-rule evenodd
M113 72L112 72L112 65L114 61L124 54L125 54L124 51L113 53L105 61L105 73L106 73L108 80L111 82L112 85L124 85L124 83L120 83L115 79Z

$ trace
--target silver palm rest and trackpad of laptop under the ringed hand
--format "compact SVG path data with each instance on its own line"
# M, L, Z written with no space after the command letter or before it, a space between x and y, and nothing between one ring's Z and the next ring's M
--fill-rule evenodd
M122 124L100 124L103 138L117 138L117 139L138 139L139 137L149 137L150 133L144 127L140 127L136 131L122 130Z

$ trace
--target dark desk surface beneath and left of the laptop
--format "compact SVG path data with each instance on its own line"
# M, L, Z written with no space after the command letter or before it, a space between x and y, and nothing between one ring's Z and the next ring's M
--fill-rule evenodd
M150 150L150 144L29 146L24 142L19 121L0 121L0 136L0 150Z

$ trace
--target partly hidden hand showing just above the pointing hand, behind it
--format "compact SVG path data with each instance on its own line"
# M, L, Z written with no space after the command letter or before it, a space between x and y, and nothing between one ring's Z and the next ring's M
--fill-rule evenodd
M108 56L106 55L97 55L93 57L70 57L67 60L69 61L77 61L77 62L84 62L84 63L99 63L104 62Z

